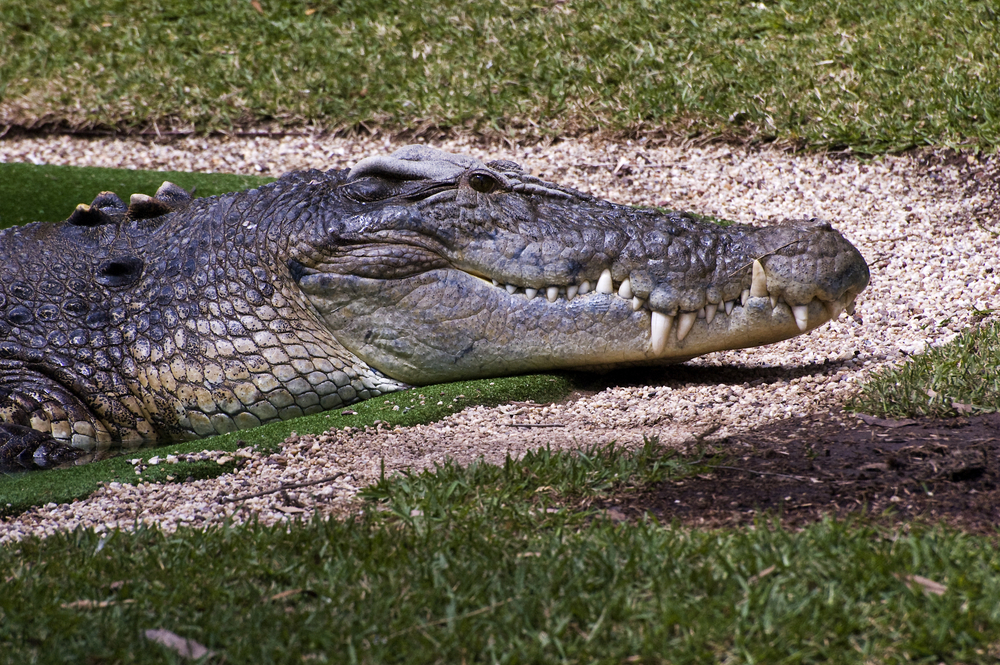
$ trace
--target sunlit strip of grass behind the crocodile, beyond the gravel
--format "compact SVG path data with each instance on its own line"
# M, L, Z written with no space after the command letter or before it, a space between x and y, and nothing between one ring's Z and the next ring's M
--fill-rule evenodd
M863 151L1000 145L967 0L6 0L0 125L667 128Z

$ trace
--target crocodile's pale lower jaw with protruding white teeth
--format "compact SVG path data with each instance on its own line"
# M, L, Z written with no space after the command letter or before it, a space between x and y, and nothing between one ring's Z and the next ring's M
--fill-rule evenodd
M314 274L300 286L338 342L386 375L415 385L682 362L788 339L804 332L803 318L808 331L847 307L846 300L840 307L813 299L793 313L783 302L755 295L720 304L711 320L697 312L664 317L634 309L620 290L572 300L563 294L550 302L456 269L396 280Z

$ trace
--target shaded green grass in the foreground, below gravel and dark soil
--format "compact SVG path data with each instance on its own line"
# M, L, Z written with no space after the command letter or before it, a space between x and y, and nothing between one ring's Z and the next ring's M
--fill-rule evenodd
M540 451L383 481L356 519L32 538L0 549L0 653L177 662L166 629L236 663L995 662L994 539L578 509L696 468Z

